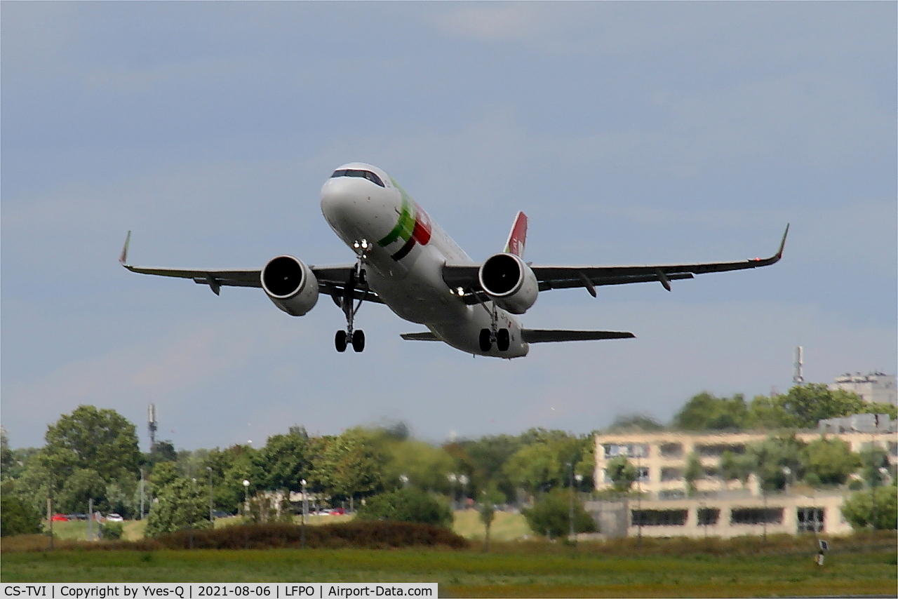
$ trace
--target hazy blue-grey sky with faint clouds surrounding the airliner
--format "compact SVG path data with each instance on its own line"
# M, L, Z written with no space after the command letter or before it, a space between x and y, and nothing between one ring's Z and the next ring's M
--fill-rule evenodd
M225 446L404 420L415 435L667 421L692 394L893 373L894 3L12 3L2 59L2 406L13 446L90 403ZM637 339L472 358L366 305L291 318L117 263L351 260L319 190L401 181L475 259L770 255L757 271L542 294L532 328Z

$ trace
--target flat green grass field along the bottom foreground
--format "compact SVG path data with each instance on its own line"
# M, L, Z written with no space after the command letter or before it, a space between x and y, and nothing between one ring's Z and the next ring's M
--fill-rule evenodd
M666 547L666 550L665 550ZM3 582L436 582L475 597L894 595L895 551L713 555L675 542L440 550L4 551ZM779 548L770 548L777 551ZM677 553L680 553L679 555Z

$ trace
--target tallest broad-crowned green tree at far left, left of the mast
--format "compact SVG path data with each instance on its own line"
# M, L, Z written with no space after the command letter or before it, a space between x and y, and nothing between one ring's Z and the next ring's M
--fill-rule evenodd
M115 410L78 406L50 425L45 438L42 457L60 487L79 469L99 472L105 482L137 476L136 429Z

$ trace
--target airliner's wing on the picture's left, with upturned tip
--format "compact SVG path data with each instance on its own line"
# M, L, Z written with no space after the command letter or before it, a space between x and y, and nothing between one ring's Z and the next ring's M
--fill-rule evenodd
M159 277L179 277L192 278L194 283L199 285L208 285L212 292L216 295L221 293L223 286L234 287L261 287L261 269L258 270L191 270L191 269L160 269L148 268L142 266L133 266L128 264L128 245L131 241L131 232L128 231L128 237L125 238L125 247L122 248L119 264L131 272L140 273L142 275L156 275ZM332 297L342 297L343 290L347 286L349 275L355 269L355 264L339 264L336 266L315 267L309 266L309 269L318 279L318 288L322 294L331 295ZM383 304L383 300L370 289L356 285L353 289L353 299L365 299L365 302L373 302L374 304Z

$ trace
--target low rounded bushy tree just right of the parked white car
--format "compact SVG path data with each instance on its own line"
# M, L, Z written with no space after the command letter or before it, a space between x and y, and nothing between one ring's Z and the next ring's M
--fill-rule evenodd
M157 468L161 465L157 464ZM193 480L182 477L157 489L156 503L146 518L145 534L152 537L184 528L207 528L209 508L203 491Z

